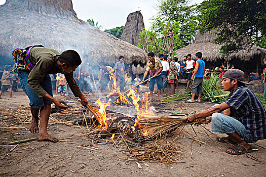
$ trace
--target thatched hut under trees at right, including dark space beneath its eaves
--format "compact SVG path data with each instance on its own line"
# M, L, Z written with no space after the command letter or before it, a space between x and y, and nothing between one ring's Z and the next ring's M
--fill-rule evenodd
M246 74L253 70L258 72L261 69L263 58L266 56L266 49L252 46L225 57L220 53L221 45L211 42L215 38L215 31L210 31L203 35L200 35L198 32L194 43L178 49L176 57L182 60L183 56L192 54L193 58L195 58L197 52L202 52L202 58L207 63L207 66L219 67L221 62L225 60L228 63L234 64L236 68L242 69Z

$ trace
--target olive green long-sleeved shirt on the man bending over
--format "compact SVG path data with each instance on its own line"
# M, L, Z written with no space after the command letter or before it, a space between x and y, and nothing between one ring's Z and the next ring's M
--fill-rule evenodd
M28 76L28 85L39 97L47 93L40 83L43 81L45 74L62 73L75 97L81 97L80 87L73 78L73 72L66 73L56 68L59 53L54 49L34 47L29 52L31 63L34 65Z

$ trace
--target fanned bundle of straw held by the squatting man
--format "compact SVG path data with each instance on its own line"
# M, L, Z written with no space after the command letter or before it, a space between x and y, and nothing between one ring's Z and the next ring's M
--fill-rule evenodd
M210 118L198 118L194 122L183 122L184 117L176 116L150 116L138 120L139 128L144 133L145 140L166 136L173 130L188 124L209 123Z

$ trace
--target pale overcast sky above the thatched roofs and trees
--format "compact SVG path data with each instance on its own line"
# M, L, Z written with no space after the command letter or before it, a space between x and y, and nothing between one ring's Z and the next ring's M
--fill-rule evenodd
M191 0L198 4L203 0ZM0 5L6 0L0 0ZM141 10L145 28L150 27L151 18L157 14L158 0L72 0L73 9L79 19L93 19L101 25L101 30L115 28L126 24L127 16Z

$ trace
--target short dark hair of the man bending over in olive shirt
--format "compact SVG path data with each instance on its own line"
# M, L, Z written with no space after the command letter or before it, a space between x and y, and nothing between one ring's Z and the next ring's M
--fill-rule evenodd
M78 52L73 50L64 51L59 57L58 60L61 63L65 63L67 66L79 66L82 61Z

